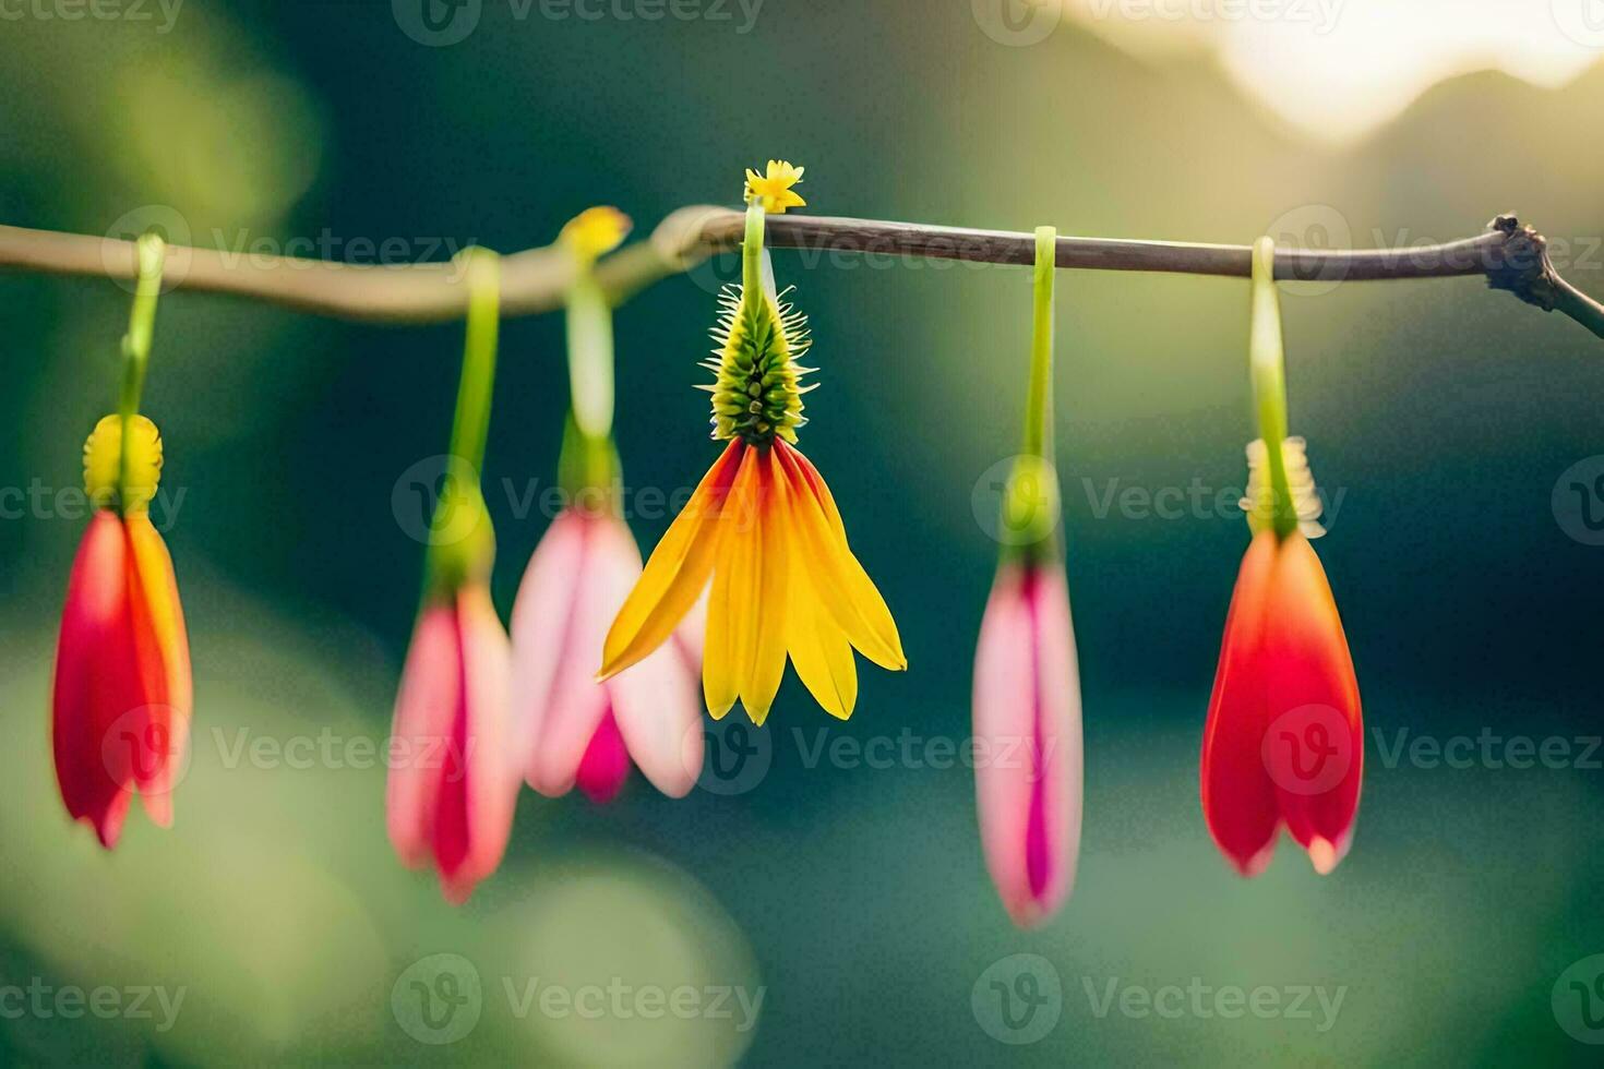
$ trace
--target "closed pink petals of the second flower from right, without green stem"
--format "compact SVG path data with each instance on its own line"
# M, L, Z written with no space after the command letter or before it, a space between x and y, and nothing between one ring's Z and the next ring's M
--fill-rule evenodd
M1047 920L1081 841L1081 686L1057 563L1004 563L975 652L975 792L991 881L1014 923Z

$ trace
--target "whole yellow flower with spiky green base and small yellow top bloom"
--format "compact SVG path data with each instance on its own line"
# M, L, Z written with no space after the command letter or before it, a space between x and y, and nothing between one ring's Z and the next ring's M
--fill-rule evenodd
M714 338L719 359L712 436L728 441L691 500L653 550L603 647L611 678L662 646L709 587L703 696L720 718L741 700L764 723L786 656L820 705L847 718L858 697L852 649L900 672L908 660L885 601L847 545L824 479L796 449L802 417L797 361L808 348L800 313L775 293L764 215L800 197L802 171L772 163L747 173L743 280L727 287Z

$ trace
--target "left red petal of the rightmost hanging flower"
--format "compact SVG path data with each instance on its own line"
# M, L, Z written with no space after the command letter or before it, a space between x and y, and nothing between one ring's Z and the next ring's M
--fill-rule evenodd
M1275 784L1261 755L1267 718L1259 649L1275 559L1275 535L1254 535L1230 596L1203 729L1203 819L1221 853L1245 877L1270 862L1280 825Z

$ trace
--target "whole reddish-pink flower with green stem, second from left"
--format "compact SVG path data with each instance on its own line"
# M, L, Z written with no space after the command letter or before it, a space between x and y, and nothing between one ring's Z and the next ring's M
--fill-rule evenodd
M478 471L496 380L500 274L472 248L467 353L444 486L430 526L423 606L401 673L385 808L403 864L439 870L462 904L500 864L518 769L508 724L510 651L489 577L496 558Z

